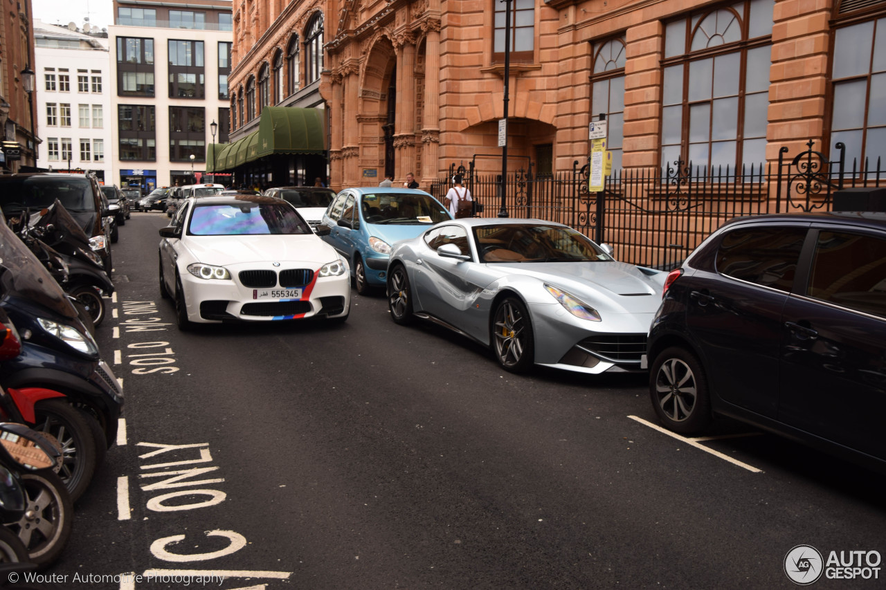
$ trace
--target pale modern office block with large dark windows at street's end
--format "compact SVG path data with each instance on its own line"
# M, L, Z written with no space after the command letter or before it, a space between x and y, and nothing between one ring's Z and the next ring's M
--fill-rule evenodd
M199 182L207 146L228 141L230 3L115 0L113 8L114 182L144 191Z

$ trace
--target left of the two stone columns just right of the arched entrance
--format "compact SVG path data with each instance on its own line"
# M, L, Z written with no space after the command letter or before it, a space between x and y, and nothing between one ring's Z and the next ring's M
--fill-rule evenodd
M394 39L397 50L397 105L394 116L394 175L406 178L416 161L416 39L405 31Z

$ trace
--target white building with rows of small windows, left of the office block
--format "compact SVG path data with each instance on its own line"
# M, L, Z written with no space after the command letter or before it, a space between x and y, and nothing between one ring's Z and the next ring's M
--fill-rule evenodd
M37 166L113 184L108 39L84 28L35 20L37 128L43 136Z

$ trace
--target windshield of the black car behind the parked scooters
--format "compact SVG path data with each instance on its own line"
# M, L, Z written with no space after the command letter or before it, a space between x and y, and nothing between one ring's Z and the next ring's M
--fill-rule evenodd
M6 214L25 209L43 209L55 199L72 213L95 212L96 197L92 182L83 177L0 176L0 208Z

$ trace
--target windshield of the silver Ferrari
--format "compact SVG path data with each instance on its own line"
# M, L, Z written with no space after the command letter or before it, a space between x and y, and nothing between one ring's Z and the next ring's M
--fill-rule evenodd
M571 228L526 223L481 225L474 238L482 262L600 262L613 260Z

